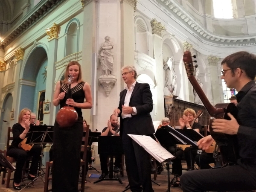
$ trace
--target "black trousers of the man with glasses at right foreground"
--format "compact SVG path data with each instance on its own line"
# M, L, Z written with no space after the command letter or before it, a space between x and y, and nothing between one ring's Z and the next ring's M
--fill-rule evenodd
M180 182L183 192L256 189L256 178L240 165L186 172Z

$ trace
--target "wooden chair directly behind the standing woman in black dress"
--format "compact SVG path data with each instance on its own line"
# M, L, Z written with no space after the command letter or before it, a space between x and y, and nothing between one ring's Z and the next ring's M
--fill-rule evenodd
M85 137L83 137L84 145L82 145L81 151L84 152L83 158L81 159L80 166L82 167L82 178L81 178L81 187L78 189L78 191L84 192L84 182L85 182L85 169L87 166L87 144L88 144L88 138L89 138L89 127L90 125L87 125L86 128L84 128L84 131L86 131ZM49 187L49 180L52 180L52 177L49 177L50 174L50 167L52 167L52 161L46 162L46 169L45 169L45 182L44 182L44 192L50 192L52 189L48 189Z

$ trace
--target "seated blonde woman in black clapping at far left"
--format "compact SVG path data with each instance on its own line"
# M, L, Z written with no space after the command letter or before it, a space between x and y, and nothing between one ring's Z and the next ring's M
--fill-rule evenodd
M35 175L37 175L38 172L38 163L41 155L41 146L33 145L30 151L25 151L19 148L19 143L27 137L26 134L27 132L29 132L30 114L31 111L28 108L24 108L20 111L18 123L12 126L12 145L10 145L10 147L7 150L7 155L9 157L13 157L17 161L16 170L13 178L13 188L16 190L21 189L20 182L22 180L22 169L28 157L33 156L28 179L34 180Z

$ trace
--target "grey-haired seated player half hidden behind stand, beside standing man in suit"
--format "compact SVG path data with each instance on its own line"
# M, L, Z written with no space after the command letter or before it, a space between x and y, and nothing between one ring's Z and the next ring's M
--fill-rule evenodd
M165 117L162 119L162 128L171 129L167 127L170 124L169 118ZM172 175L182 175L182 166L181 166L181 159L183 157L183 151L176 146L164 146L167 151L169 151L172 155L176 158L172 160ZM177 181L172 183L172 187L180 186L180 177L177 177Z

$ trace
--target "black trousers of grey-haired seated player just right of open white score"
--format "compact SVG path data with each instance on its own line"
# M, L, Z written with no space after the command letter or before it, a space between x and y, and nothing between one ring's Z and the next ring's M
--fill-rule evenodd
M182 175L181 159L184 151L174 146L167 147L167 151L176 157L174 160L172 160L172 175Z

